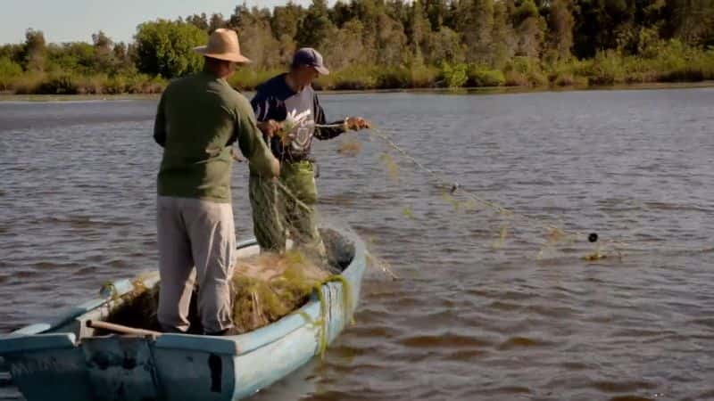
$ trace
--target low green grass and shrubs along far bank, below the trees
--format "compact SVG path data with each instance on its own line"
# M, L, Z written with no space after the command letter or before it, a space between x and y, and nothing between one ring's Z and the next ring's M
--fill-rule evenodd
M252 91L283 70L242 68L229 84ZM479 86L608 86L638 83L714 80L714 49L688 46L677 40L645 46L639 55L609 50L590 60L545 62L514 57L500 69L489 65L447 64L440 67L353 65L320 77L319 89L370 90ZM84 75L78 72L23 71L0 58L0 91L14 94L155 94L168 80L136 72Z

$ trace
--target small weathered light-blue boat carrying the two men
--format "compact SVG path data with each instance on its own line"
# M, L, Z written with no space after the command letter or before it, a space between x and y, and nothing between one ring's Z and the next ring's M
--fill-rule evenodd
M28 401L237 400L249 397L309 362L350 323L366 269L364 243L335 231L325 241L342 273L290 315L255 331L227 337L125 331L104 335L102 325L129 280L105 286L56 319L0 338L12 382ZM259 252L238 245L238 258ZM158 274L144 278L151 288ZM347 301L345 301L345 299ZM108 323L105 323L108 324ZM111 329L111 327L110 327Z

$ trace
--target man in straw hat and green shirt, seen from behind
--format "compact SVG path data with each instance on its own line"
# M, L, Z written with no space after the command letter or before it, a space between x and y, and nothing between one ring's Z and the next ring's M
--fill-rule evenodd
M217 29L208 45L195 51L203 54L203 71L170 83L154 125L154 139L163 147L156 212L158 320L163 331L188 330L195 268L203 331L222 335L233 327L231 145L238 143L257 176L278 176L279 164L262 139L250 103L226 82L238 63L250 62L240 53L237 33Z

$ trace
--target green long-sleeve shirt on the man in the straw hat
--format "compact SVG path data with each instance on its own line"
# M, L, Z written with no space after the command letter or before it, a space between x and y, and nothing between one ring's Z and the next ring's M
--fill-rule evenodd
M251 170L272 176L270 149L250 102L210 72L170 83L156 112L154 140L163 147L161 196L230 201L231 144L238 141Z

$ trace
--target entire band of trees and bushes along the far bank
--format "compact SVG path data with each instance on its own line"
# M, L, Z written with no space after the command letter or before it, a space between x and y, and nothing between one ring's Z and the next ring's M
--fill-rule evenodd
M29 73L182 76L201 65L190 48L218 28L236 29L253 60L243 86L302 46L325 55L333 87L606 84L714 70L714 0L313 0L149 21L132 44L98 32L91 44L48 45L29 29L24 44L0 47L0 89Z

